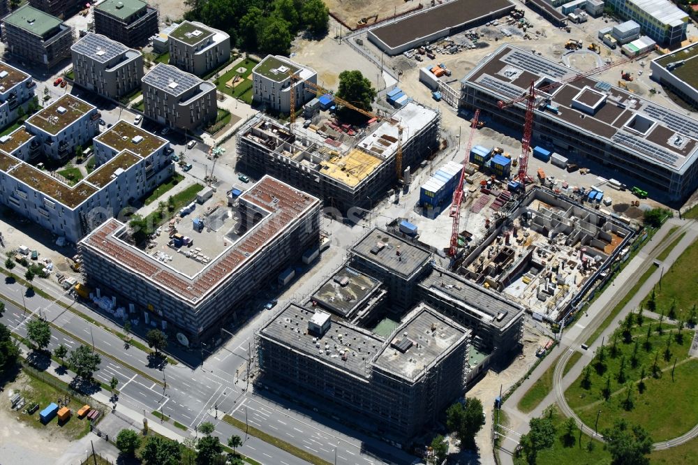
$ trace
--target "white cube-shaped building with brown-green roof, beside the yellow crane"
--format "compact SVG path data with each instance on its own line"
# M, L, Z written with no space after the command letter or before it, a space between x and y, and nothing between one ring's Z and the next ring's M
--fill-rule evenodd
M291 75L295 76L291 86ZM315 89L304 81L318 83L318 73L280 55L267 55L252 70L255 103L267 105L270 110L288 115L291 108L291 92L295 94L295 109L315 97Z

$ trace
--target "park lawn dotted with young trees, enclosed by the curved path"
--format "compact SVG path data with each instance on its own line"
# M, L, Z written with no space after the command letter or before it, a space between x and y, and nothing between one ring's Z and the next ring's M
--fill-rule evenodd
M660 335L655 330L652 331L650 341L651 350L648 352L643 347L646 340L648 324L653 328L658 326L656 320L645 318L642 327L632 329L633 341L624 344L618 335L617 346L620 353L617 357L611 358L607 355L606 368L601 374L595 369L595 362L591 362L591 387L585 389L581 385L583 374L570 385L565 391L565 398L570 407L579 415L586 425L594 425L597 412L602 411L599 418L599 429L610 427L616 418L625 418L630 423L642 425L651 434L654 441L664 441L685 433L698 422L698 391L694 389L698 383L698 360L688 357L693 331L683 330L683 342L679 344L674 337L676 326L662 323L664 334ZM669 330L674 330L669 332ZM664 348L667 346L667 339L671 338L671 357L667 362L664 360ZM632 368L630 365L630 355L634 350L634 340L639 341L638 364ZM607 341L607 347L611 346L611 341ZM651 367L657 357L657 364L662 373L659 378L651 376ZM619 383L617 376L621 364L621 357L625 355L625 377L628 381ZM671 378L671 368L676 362L674 380ZM645 368L644 392L639 392L637 381L642 367ZM607 383L607 376L611 377L610 390L612 392L609 400L602 397L602 389ZM627 387L632 385L631 398L633 407L630 411L623 406L627 397Z

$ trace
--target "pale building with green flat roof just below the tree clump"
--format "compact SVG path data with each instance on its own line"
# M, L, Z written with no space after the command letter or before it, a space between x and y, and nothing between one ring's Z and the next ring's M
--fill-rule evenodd
M168 34L170 64L202 76L230 59L230 36L200 22L184 21Z

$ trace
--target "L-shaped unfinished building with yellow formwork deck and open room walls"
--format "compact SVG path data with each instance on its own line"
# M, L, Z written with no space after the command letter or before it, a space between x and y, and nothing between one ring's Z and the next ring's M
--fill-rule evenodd
M396 154L402 128L402 168L409 175L439 147L441 115L410 102L357 135L338 140L322 130L290 130L258 115L237 136L238 163L313 193L342 214L351 207L370 208L397 181Z

